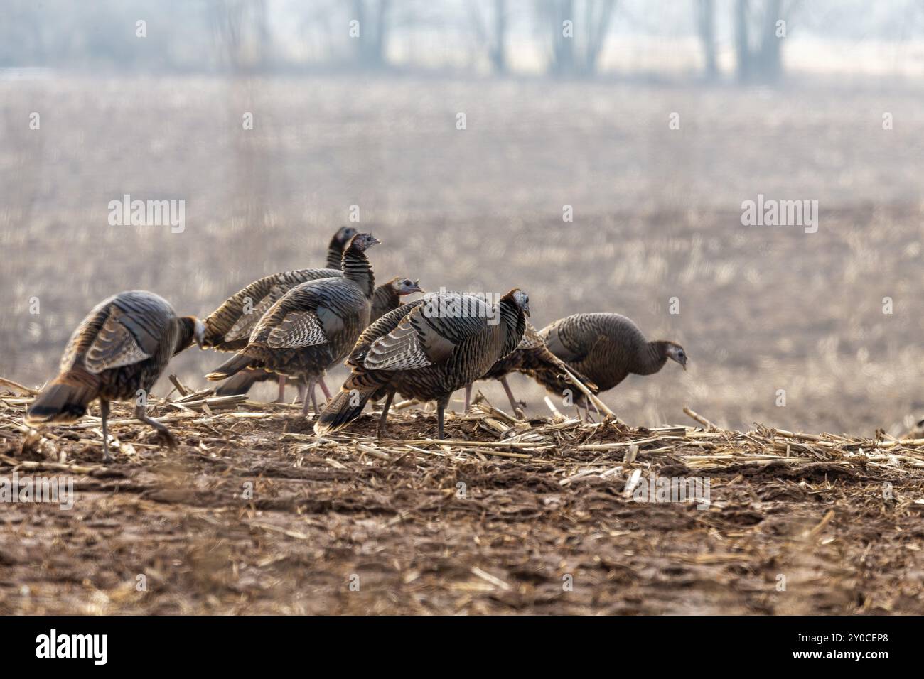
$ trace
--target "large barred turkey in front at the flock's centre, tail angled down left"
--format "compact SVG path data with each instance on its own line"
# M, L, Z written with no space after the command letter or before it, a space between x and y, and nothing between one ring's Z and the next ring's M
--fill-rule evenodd
M439 437L449 396L517 348L529 316L529 297L511 290L496 307L459 293L427 295L371 324L346 364L352 369L340 394L314 425L323 435L359 417L370 398L385 396L379 438L395 392L436 401ZM497 319L497 322L491 322Z

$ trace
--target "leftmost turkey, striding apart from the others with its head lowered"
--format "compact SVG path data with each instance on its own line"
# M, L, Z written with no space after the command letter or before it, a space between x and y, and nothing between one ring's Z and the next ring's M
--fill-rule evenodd
M35 397L26 423L76 421L99 398L103 460L108 462L112 459L106 421L109 402L141 396L135 417L174 445L170 430L145 415L144 402L170 357L192 341L201 346L204 332L201 321L193 316L177 317L163 297L151 292L131 290L104 299L70 336L58 376Z

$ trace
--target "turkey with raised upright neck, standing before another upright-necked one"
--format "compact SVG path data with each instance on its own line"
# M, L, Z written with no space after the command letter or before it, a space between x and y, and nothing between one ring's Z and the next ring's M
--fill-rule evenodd
M314 401L314 382L346 357L369 324L375 277L366 250L379 243L353 236L343 256L343 276L296 285L266 311L247 346L206 377L224 380L246 368L304 379ZM302 412L308 413L309 399ZM314 404L317 410L317 404Z

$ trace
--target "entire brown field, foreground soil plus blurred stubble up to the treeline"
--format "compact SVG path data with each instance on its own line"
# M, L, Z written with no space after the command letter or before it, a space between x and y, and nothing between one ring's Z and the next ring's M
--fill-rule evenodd
M0 612L924 612L924 449L889 436L924 414L918 103L517 80L0 82L0 375L16 382L49 379L118 290L202 314L321 264L351 204L383 240L383 276L519 285L540 325L623 312L691 360L604 394L628 429L546 419L541 390L514 378L528 422L482 410L447 423L461 443L423 443L432 416L410 410L392 433L418 443L375 443L368 416L317 442L297 409L258 403L263 385L211 414L157 406L174 452L117 424L110 467L98 421L39 438L11 388L0 476L71 475L79 503L3 509ZM186 231L109 226L124 193L187 200ZM819 200L819 232L743 227L758 193ZM171 370L198 388L219 361L190 351ZM718 429L679 426L685 406ZM711 509L627 500L635 469L709 477Z

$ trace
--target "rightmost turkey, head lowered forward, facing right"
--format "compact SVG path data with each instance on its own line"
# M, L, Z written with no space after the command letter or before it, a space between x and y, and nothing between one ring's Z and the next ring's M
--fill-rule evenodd
M649 342L633 321L618 313L578 313L554 321L540 335L554 356L587 376L594 394L612 389L630 373L654 374L668 358L687 370L683 346L668 340ZM534 368L529 374L553 394L574 389L555 370ZM581 394L575 402L584 400Z

